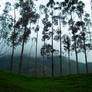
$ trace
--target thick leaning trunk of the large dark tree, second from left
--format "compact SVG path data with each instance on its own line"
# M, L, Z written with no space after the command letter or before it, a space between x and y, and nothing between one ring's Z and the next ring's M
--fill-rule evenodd
M24 29L23 42L22 42L22 50L21 50L21 55L20 55L19 68L18 68L18 73L19 74L21 74L21 70L22 70L23 52L24 52L24 43L25 43L25 34L26 34L26 26L25 26L25 29Z

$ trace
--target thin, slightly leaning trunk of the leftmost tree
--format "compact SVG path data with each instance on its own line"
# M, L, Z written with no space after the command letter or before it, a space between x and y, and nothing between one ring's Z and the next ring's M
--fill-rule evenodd
M13 47L12 47L12 55L11 55L11 62L10 62L10 72L12 72L13 69L13 59L14 59L14 35L15 35L15 19L16 19L16 13L15 13L15 7L14 7L14 33L13 33Z

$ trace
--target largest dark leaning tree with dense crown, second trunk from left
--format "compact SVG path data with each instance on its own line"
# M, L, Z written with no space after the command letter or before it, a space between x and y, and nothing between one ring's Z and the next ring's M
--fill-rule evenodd
M28 0L19 0L19 3L16 4L19 7L20 15L18 22L16 23L16 27L21 30L22 32L22 49L20 55L20 62L19 62L19 74L21 73L22 69L22 61L23 61L23 52L24 52L24 45L27 42L29 34L30 34L30 27L28 27L30 21L31 23L36 23L38 18L38 14L35 12L33 1L30 0L30 4Z

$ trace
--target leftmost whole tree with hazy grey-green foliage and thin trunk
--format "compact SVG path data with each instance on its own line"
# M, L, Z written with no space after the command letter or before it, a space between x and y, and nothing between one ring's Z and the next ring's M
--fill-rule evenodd
M2 14L2 34L3 34L3 39L6 40L6 43L8 46L12 47L12 54L11 54L11 61L10 61L10 71L12 72L13 69L13 62L14 62L14 50L15 47L19 44L19 35L18 31L15 32L15 8L14 8L14 18L12 15L10 15L10 11L12 10L11 8L11 3L6 2L5 8L3 10Z

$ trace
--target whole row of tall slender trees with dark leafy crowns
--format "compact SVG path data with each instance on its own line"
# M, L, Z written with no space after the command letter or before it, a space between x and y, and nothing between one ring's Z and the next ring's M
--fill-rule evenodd
M6 2L3 14L0 15L0 38L12 48L10 71L12 72L13 69L14 51L20 45L22 49L18 73L21 74L24 46L32 31L34 31L36 33L36 37L33 38L36 42L35 76L37 76L38 34L42 30L43 46L40 53L43 57L43 75L45 75L44 58L51 56L51 76L54 76L55 54L60 57L60 75L62 75L63 49L68 54L69 73L71 73L71 52L75 52L76 73L80 72L78 54L84 53L85 68L86 73L88 73L87 50L92 47L91 19L90 14L84 8L85 4L80 0L64 0L61 2L49 0L45 5L39 5L39 10L32 0L17 0L13 6L10 2ZM10 11L14 11L13 16ZM16 18L16 11L19 13L18 19ZM57 45L54 43L55 41L59 42L58 48L55 48L55 45Z

